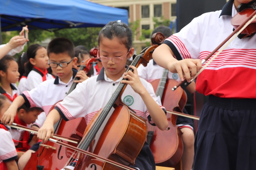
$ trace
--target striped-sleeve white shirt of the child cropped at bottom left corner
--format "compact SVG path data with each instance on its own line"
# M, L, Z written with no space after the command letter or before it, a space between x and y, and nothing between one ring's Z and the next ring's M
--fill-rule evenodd
M11 133L0 128L0 136L0 164L18 159Z

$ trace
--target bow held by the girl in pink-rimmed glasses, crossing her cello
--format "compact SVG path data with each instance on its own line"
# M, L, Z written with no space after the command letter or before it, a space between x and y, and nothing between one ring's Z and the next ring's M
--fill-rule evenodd
M32 134L32 135L35 135L35 136L37 135L37 133L34 133L34 132L31 132L31 134ZM68 147L68 148L70 148L70 149L73 149L73 150L75 150L75 151L81 152L81 153L83 153L83 154L89 155L89 156L91 156L91 157L100 159L101 161L105 161L105 162L111 163L112 165L119 166L119 167L121 167L121 168L123 168L123 169L126 169L126 170L135 170L135 169L130 168L130 167L128 167L128 166L122 165L122 164L120 164L120 163L118 163L118 162L111 161L110 159L103 158L103 157L101 157L101 156L99 156L99 155L96 155L96 154L93 154L93 153L91 153L91 152L82 150L82 149L80 149L80 148L74 147L74 146L69 145L69 144L67 144L67 143L60 142L60 141L55 140L55 139L52 139L52 138L49 138L48 140L51 141L51 142L53 142L53 143L57 143L57 144L60 144L60 145L62 145L62 146L65 146L65 147Z

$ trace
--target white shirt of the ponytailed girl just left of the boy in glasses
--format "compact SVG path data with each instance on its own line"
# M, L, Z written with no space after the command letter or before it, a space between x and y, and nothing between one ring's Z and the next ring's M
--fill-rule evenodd
M27 75L26 86L27 90L32 90L36 88L42 81L42 73L39 72L37 69L33 68L29 75ZM46 80L54 79L51 74L46 74Z

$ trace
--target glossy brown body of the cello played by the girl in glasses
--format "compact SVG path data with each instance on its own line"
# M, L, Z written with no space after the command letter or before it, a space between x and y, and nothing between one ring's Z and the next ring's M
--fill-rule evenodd
M104 121L90 144L89 152L126 166L134 165L135 159L146 140L146 120L136 115L124 104L119 104L114 108L114 112L108 120ZM90 121L85 134L99 114L100 111ZM78 160L76 170L122 170L120 167L84 154L81 154Z

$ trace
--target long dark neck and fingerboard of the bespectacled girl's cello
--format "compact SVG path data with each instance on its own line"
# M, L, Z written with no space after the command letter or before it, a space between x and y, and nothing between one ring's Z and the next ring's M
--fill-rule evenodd
M131 63L132 66L138 66L138 63L140 61L140 58L143 56L142 54L137 55L133 62ZM128 68L126 72L131 70L133 72L133 69ZM122 80L128 80L123 78ZM111 94L110 98L108 99L107 103L104 105L104 107L101 109L99 116L97 119L94 121L93 125L91 126L90 130L87 132L85 135L85 138L82 142L82 144L79 146L80 149L82 150L87 150L88 147L90 146L90 143L93 141L94 137L96 136L97 132L99 131L101 125L103 124L104 120L108 116L108 113L111 112L112 107L118 100L118 97L122 95L123 90L125 89L126 84L119 82L118 85L116 86L116 89L114 92Z

